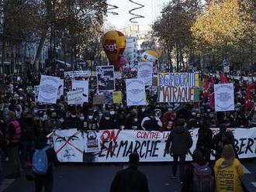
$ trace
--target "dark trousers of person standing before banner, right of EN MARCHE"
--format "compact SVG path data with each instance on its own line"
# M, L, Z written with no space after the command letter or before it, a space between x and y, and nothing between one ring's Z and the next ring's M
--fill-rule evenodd
M177 166L178 166L178 159L179 159L179 180L183 182L184 174L185 174L185 155L178 155L173 154L173 166L172 166L172 174L176 176L177 173Z

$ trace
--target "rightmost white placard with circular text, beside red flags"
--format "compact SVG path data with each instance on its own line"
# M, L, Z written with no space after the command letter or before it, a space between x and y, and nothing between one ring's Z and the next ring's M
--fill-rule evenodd
M214 84L215 111L234 111L234 84Z

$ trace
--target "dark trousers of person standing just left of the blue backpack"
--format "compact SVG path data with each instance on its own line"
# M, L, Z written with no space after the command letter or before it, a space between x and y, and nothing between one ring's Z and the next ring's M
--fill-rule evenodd
M36 142L33 140L30 141L22 141L21 143L21 163L22 168L26 168L26 163L32 159L33 150L35 149Z

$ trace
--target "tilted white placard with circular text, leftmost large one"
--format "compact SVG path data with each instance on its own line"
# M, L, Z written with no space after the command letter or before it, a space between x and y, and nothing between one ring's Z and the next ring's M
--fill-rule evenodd
M39 86L38 102L56 104L60 78L42 75Z

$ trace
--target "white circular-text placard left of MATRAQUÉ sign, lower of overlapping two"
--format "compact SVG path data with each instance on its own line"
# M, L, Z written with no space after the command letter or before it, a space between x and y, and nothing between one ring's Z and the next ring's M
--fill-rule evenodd
M126 104L146 105L145 83L143 79L126 79Z

